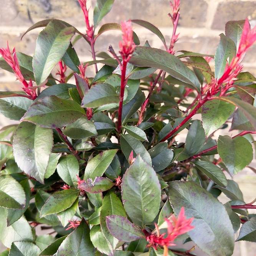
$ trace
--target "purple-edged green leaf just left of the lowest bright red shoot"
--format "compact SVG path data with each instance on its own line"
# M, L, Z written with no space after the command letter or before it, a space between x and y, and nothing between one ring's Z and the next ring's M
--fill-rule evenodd
M141 230L123 216L107 216L106 222L111 235L120 241L130 242L145 237Z

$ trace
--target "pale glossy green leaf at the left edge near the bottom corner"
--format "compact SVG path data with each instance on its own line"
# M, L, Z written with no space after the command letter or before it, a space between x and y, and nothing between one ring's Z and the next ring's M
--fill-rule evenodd
M7 248L11 247L14 241L33 242L31 227L24 216L7 227L7 209L0 207L0 240Z

